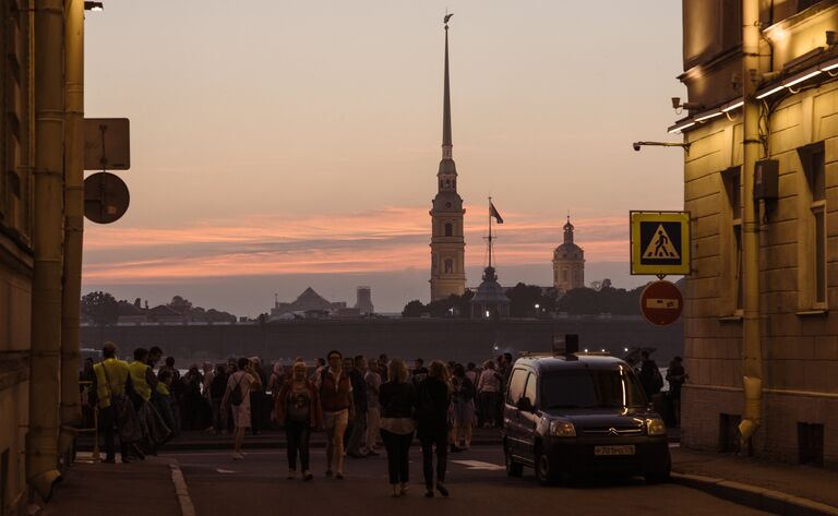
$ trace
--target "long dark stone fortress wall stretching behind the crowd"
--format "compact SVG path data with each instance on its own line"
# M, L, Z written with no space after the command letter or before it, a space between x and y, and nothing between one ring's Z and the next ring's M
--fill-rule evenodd
M553 335L576 333L580 347L608 349L621 356L623 348L658 348L658 363L682 353L683 325L655 327L639 319L567 319L555 321L459 320L287 321L265 325L116 326L82 328L83 347L99 348L113 340L120 356L135 347L159 346L166 355L192 362L258 355L267 360L307 360L324 357L331 349L344 355L385 352L412 360L478 361L511 351L549 351ZM494 347L498 347L495 350ZM184 365L181 363L181 365Z

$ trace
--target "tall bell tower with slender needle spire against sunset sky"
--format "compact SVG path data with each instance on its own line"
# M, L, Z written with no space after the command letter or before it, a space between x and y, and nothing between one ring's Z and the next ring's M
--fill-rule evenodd
M466 241L463 199L457 193L457 167L451 144L451 87L448 80L448 20L445 15L445 79L442 105L442 160L431 215L431 301L466 290Z

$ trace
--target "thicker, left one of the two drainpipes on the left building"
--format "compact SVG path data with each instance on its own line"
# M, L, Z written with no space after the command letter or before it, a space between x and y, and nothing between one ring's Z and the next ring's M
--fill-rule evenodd
M63 226L63 5L35 1L35 171L32 242L29 431L26 481L44 500L58 472L59 346Z

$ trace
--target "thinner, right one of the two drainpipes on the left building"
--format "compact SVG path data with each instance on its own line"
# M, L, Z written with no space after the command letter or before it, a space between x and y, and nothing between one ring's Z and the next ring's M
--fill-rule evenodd
M61 430L59 452L73 451L79 404L79 319L84 231L84 1L65 0L64 290L61 300ZM69 457L68 457L69 458Z

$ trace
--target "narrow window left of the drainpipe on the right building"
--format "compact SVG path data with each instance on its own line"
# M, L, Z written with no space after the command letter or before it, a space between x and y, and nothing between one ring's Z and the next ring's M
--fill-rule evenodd
M730 253L726 256L726 304L723 315L739 313L743 308L742 277L742 173L741 167L731 167L721 172L727 193L727 224Z

